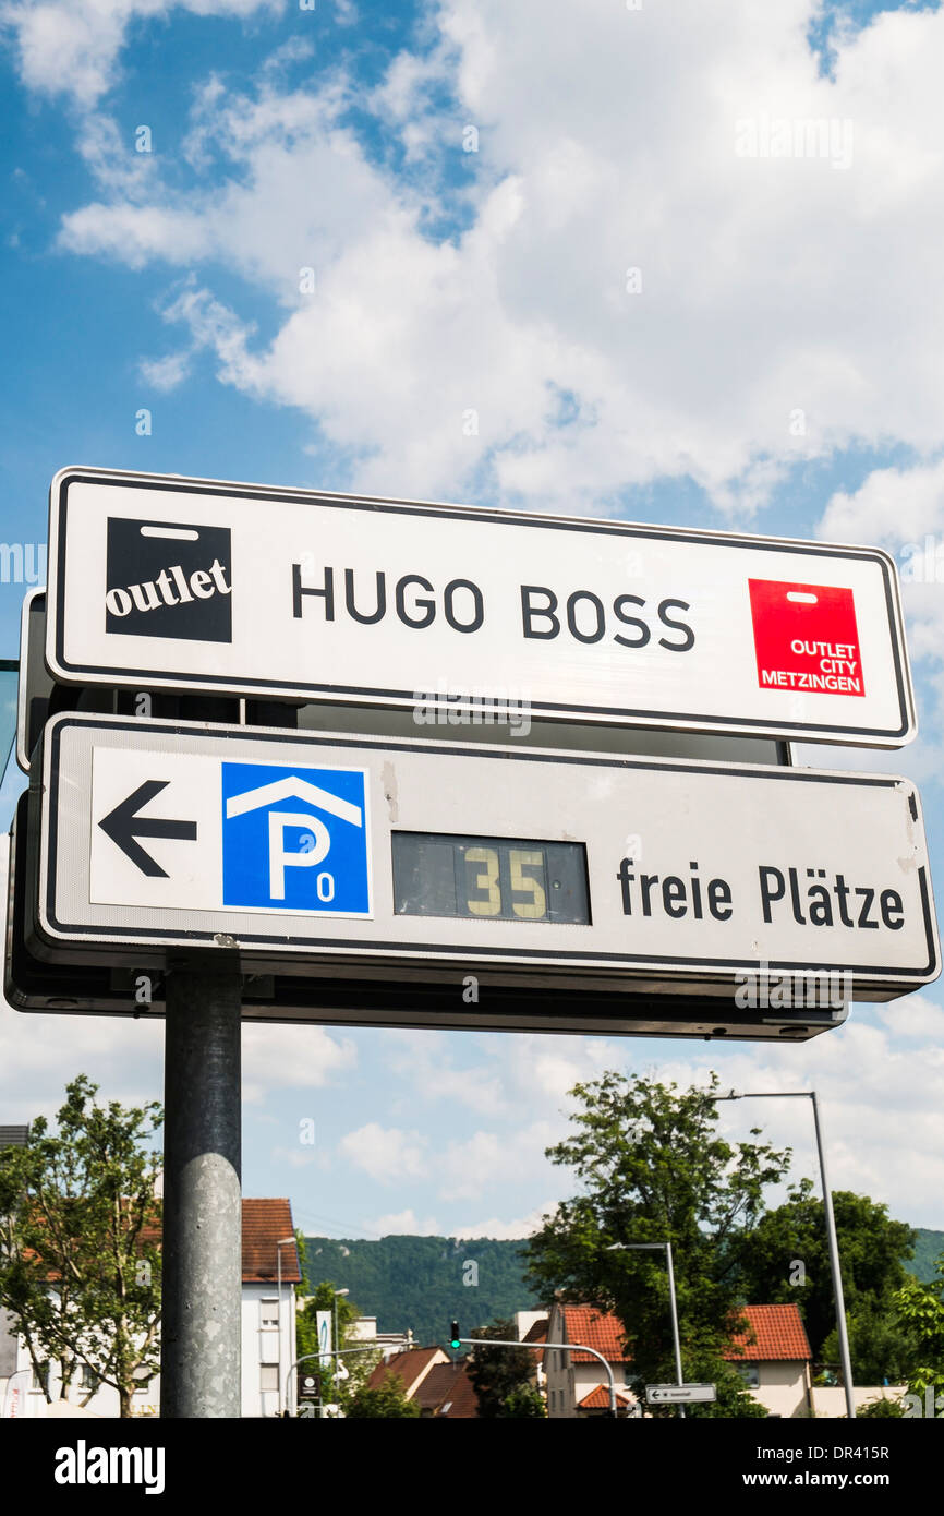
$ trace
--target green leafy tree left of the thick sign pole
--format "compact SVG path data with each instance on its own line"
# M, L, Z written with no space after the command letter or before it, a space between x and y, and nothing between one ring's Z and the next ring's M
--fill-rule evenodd
M0 1152L0 1305L33 1369L59 1364L62 1398L83 1364L130 1416L159 1370L161 1160L145 1145L162 1116L156 1102L97 1105L97 1092L79 1075L56 1134L41 1116L24 1148Z

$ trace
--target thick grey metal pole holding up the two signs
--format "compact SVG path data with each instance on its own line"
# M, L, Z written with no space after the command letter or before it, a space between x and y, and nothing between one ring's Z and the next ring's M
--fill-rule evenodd
M168 973L162 1417L238 1417L242 1295L238 973Z

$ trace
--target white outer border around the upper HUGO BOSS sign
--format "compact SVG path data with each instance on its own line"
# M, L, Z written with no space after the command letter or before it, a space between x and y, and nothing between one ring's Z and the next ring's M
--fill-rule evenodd
M879 568L883 585L883 602L886 611L886 626L882 637L888 638L889 672L894 672L894 705L897 709L896 723L871 726L841 725L832 722L758 719L750 716L706 714L703 711L674 711L659 708L624 708L615 703L579 705L571 702L533 702L530 714L535 720L549 722L579 722L585 725L617 725L626 728L662 728L688 732L724 732L727 735L755 735L792 738L803 741L847 743L852 746L870 747L900 747L917 734L914 691L908 666L905 643L899 581L894 559L877 547L855 547L832 543L811 543L796 538L752 537L736 532L714 532L702 529L683 529L670 526L642 526L629 522L603 522L591 517L565 517L538 512L514 512L505 509L483 509L479 506L444 505L439 502L397 500L392 497L367 497L356 494L338 494L320 490L288 490L252 484L230 484L214 479L188 479L179 475L135 475L108 468L64 468L50 487L50 541L48 541L48 600L47 600L47 644L45 661L53 678L64 684L108 684L124 688L168 688L180 691L208 691L215 694L256 696L261 699L294 699L320 700L347 705L374 706L414 706L417 693L414 690L392 687L368 687L365 684L315 684L311 679L305 684L288 682L285 679L261 679L232 676L229 673L168 673L161 667L114 667L91 661L71 662L65 655L65 541L68 523L68 490L71 484L85 485L121 485L127 490L161 490L177 491L180 494L200 494L205 497L226 496L242 500L261 500L277 503L308 505L317 509L320 505L347 508L352 512L394 512L408 517L436 517L453 522L477 523L482 526L512 526L517 529L567 531L582 534L606 534L614 538L614 546L626 543L664 543L750 549L755 552L792 552L815 561L817 558L855 559L859 564L868 562ZM156 640L155 662L159 662L161 640ZM129 659L130 661L130 659ZM497 678L506 678L505 669L495 670ZM403 670L403 678L411 678L411 670ZM668 705L668 702L667 702ZM456 702L462 708L462 702ZM852 714L852 713L850 713Z

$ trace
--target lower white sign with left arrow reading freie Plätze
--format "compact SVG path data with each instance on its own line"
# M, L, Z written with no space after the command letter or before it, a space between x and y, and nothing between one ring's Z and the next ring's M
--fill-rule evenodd
M770 1010L938 975L906 779L74 713L41 778L44 958L191 948Z

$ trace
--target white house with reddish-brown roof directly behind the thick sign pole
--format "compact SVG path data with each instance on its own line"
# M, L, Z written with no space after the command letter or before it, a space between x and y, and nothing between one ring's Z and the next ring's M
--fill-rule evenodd
M291 1239L291 1240L288 1240ZM279 1255L282 1266L279 1269ZM279 1272L282 1275L279 1286ZM302 1283L299 1251L294 1242L291 1204L286 1199L242 1201L242 1369L241 1414L277 1416L288 1404L295 1404L292 1364L295 1361L295 1287ZM47 1401L33 1373L26 1346L18 1342L14 1375L17 1414L45 1416ZM58 1381L53 1366L53 1396ZM0 1377L0 1414L9 1407L8 1384ZM70 1401L79 1405L91 1393L86 1411L94 1416L117 1416L118 1393L111 1386L95 1386L92 1375L80 1369L70 1389ZM288 1399L286 1399L288 1395ZM135 1416L156 1416L161 1405L161 1380L155 1377L133 1396ZM11 1414L9 1408L6 1414Z

